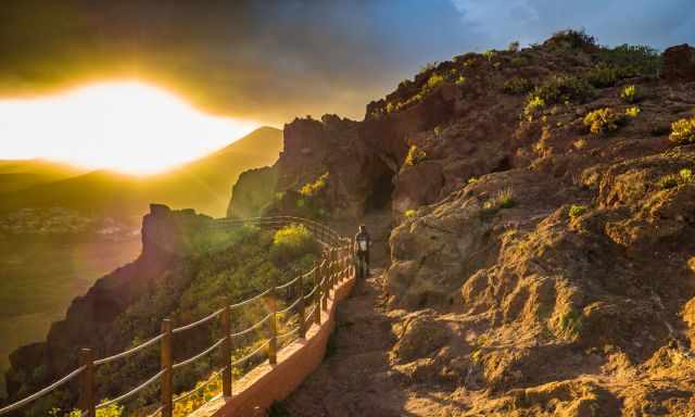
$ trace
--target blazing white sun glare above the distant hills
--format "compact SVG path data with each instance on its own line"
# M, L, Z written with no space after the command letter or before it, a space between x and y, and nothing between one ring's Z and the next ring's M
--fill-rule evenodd
M194 160L257 124L215 117L140 81L0 100L0 159L42 157L146 175Z

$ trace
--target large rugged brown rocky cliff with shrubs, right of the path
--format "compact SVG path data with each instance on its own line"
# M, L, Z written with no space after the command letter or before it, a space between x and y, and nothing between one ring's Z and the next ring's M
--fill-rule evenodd
M265 211L392 212L389 362L441 415L690 415L694 51L456 56L363 122L287 125Z

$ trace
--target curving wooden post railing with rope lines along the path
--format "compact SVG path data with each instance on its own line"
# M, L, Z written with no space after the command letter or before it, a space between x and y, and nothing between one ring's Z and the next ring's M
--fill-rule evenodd
M215 229L235 228L243 225L254 225L262 228L280 229L293 224L303 225L304 227L306 227L314 235L315 239L318 240L324 247L324 254L320 262L316 263L314 265L314 268L312 268L311 270L300 275L289 282L270 287L265 291L242 302L236 304L226 303L226 305L210 314L208 316L185 326L175 328L172 320L165 318L162 320L162 329L157 336L125 352L96 359L92 350L81 349L78 354L79 365L77 369L67 374L65 377L59 379L52 384L39 390L38 392L0 408L0 416L16 412L17 409L65 386L71 380L78 378L79 399L77 401L77 409L81 412L83 416L96 417L98 409L109 407L113 404L123 404L125 401L131 399L144 388L151 386L152 383L155 383L156 381L160 381L161 404L154 410L150 412L148 416L172 417L174 412L174 404L176 402L187 399L188 396L194 394L197 390L205 387L205 384L201 384L192 391L175 396L173 388L174 374L177 369L192 364L205 356L208 356L215 351L217 351L219 355L218 369L212 374L210 380L212 380L213 378L222 377L222 394L224 396L231 396L233 383L232 369L235 367L245 364L248 361L263 351L266 351L268 362L274 365L277 363L279 340L282 339L292 341L298 338L304 339L306 337L306 331L308 327L312 326L312 324L320 325L321 311L326 311L327 308L330 291L338 285L340 285L344 279L350 278L354 273L351 262L352 242L350 239L341 237L334 230L323 224L301 217L278 216L247 219L217 219L212 224L212 227ZM312 280L312 289L307 293L304 293L305 281L307 279ZM289 306L278 311L276 295L279 291L288 289L293 289L296 298L293 302L291 302ZM230 326L231 317L233 314L232 312L258 300L266 301L266 305L269 306L268 314L263 319L256 321L244 330L232 332ZM307 309L308 313L306 313ZM296 315L296 326L293 329L279 333L278 316L291 316L292 314ZM212 345L207 346L192 357L180 361L178 363L174 363L174 351L176 346L173 343L173 336L197 328L212 320L217 320L219 323L224 336ZM244 337L245 334L257 331L263 327L267 328L268 338L258 346L256 346L251 353L232 361L232 346L235 345L233 341L238 338ZM152 375L149 379L135 387L132 390L113 400L100 402L99 399L97 399L96 369L99 366L110 364L119 359L125 359L140 351L143 351L144 349L154 346L157 343L161 352L161 363L160 370L156 374ZM151 406L150 409L153 406Z

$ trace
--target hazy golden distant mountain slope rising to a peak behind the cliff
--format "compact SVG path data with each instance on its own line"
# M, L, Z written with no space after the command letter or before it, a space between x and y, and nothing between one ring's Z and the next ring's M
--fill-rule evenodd
M21 184L2 186L11 192L5 192L0 199L0 211L61 206L91 215L132 218L146 213L149 203L161 202L223 216L239 174L271 165L281 149L282 130L261 127L217 152L151 177L140 178L109 170L61 177L56 170L56 179L40 180L48 178L50 170L47 168L47 174L40 178L8 177ZM0 164L0 181L5 174L3 166ZM13 175L9 166L8 162L7 174Z

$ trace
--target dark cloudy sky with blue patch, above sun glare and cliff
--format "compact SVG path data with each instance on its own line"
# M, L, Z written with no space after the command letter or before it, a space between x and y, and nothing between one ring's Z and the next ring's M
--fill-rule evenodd
M325 113L362 119L369 101L428 62L540 42L565 28L584 28L602 45L662 50L695 43L695 7L692 0L3 0L0 100L136 79L244 123L281 127Z

